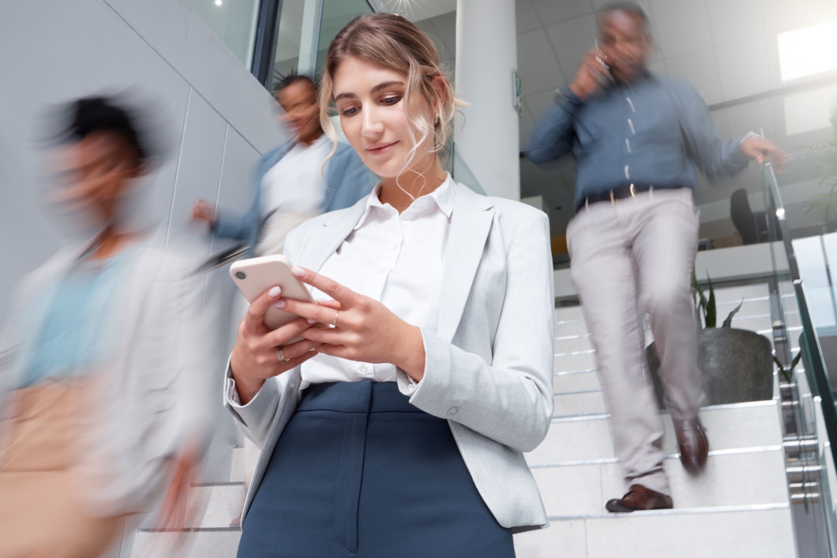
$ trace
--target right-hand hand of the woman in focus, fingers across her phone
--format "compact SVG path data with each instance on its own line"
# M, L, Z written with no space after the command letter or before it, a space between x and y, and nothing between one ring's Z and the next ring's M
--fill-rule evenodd
M422 379L424 340L418 327L409 325L377 300L357 294L333 279L300 267L291 271L302 282L334 299L317 304L293 299L280 299L276 303L278 308L300 315L311 323L334 325L300 332L300 337L322 344L316 348L317 352L350 361L388 362L413 380Z

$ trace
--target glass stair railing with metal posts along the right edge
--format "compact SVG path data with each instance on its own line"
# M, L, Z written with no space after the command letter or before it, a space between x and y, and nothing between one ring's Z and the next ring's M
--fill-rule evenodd
M834 327L834 294L831 288L827 246L822 223L811 224L800 211L799 189L792 182L780 187L773 168L763 169L768 236L771 242L778 319L774 322L775 356L783 364L802 353L802 360L780 383L788 447L808 448L788 454L788 488L793 504L799 555L837 556L837 514L835 514L834 446L837 441L837 412L828 370L819 343L822 331ZM802 188L804 192L804 188ZM797 207L788 207L784 193L791 194ZM781 255L787 265L779 265ZM788 445L790 444L790 445ZM795 444L795 445L794 445Z

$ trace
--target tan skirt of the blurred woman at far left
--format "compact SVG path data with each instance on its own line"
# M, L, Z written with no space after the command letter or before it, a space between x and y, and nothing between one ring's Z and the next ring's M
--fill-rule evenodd
M95 558L121 537L124 517L91 517L71 473L86 381L13 392L0 451L0 558Z

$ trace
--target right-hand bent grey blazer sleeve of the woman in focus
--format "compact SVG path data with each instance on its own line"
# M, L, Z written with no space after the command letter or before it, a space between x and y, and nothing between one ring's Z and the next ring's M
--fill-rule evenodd
M526 219L518 229L506 269L491 364L422 330L424 377L410 402L516 451L528 452L546 437L552 420L555 301L549 223L544 213Z

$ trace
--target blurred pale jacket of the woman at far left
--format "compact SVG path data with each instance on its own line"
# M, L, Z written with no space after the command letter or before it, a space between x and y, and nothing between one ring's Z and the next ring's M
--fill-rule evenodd
M193 256L166 248L165 233L131 254L109 309L118 316L116 350L101 405L91 409L95 427L77 455L81 480L90 483L80 495L98 515L151 510L166 488L167 459L186 443L205 448L211 439L213 381L199 332L203 277L191 276ZM13 292L0 335L0 418L14 416L8 396L23 378L50 296L88 246L59 251ZM0 429L0 449L7 435Z

